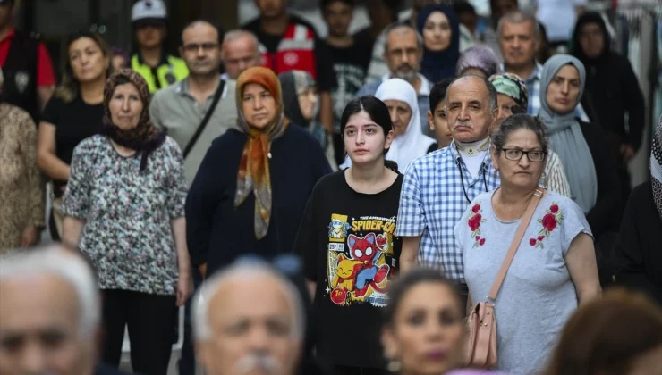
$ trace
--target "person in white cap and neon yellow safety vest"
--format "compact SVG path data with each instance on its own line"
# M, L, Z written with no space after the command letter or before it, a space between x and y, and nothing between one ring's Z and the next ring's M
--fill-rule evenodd
M131 67L147 81L152 94L189 75L182 59L165 52L167 16L161 0L140 0L132 8L138 50L131 58Z

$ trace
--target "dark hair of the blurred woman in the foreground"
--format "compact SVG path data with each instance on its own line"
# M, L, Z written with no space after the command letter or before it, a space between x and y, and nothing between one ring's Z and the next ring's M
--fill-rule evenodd
M460 316L464 316L464 308L460 293L457 287L450 279L446 279L441 272L431 268L416 268L412 271L405 273L400 279L396 279L394 284L388 289L388 304L383 309L384 324L386 326L392 325L395 320L395 312L397 312L400 305L403 303L404 296L422 283L441 284L448 287L453 295L454 304L457 306Z

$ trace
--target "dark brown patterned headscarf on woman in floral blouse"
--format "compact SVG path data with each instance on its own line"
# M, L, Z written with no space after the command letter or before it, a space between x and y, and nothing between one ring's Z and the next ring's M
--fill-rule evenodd
M115 93L115 87L122 85L120 79L126 79L138 89L140 101L142 101L142 112L138 125L133 129L120 129L113 123L110 115L110 101ZM161 146L165 141L165 132L157 129L152 121L149 120L149 87L145 79L139 73L130 69L115 71L108 80L104 88L104 125L101 133L110 137L116 144L129 147L142 153L140 159L140 171L147 166L149 154Z

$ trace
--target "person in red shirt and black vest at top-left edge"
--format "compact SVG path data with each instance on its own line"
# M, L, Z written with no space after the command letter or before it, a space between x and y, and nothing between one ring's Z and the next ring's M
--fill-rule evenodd
M0 0L0 67L4 73L3 96L10 104L30 113L35 123L55 88L55 71L38 34L26 35L13 28L14 0Z

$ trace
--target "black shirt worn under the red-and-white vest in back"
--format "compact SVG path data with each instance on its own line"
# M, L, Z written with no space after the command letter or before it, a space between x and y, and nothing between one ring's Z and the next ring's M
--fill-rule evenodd
M317 30L308 21L303 20L301 17L290 14L290 22L301 24L313 31L315 34L315 70L317 71L317 84L319 91L328 92L331 88L335 87L335 75L329 60L329 53L325 48L325 43L318 37ZM259 18L250 21L243 25L242 29L248 30L258 37L259 43L262 44L270 54L275 54L278 50L278 45L283 40L282 35L273 35L265 32L259 22Z

